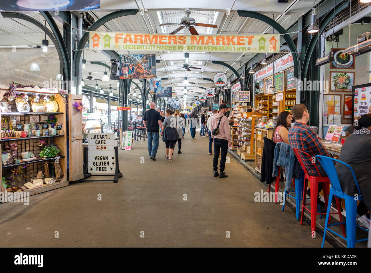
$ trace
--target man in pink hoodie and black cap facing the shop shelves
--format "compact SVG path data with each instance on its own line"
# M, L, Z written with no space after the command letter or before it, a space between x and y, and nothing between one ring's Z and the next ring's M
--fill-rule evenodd
M226 157L228 147L232 146L232 140L230 136L229 122L227 104L219 105L219 113L213 115L213 118L210 122L210 131L211 137L214 139L214 159L213 159L213 168L214 168L214 177L219 176L220 178L228 177L224 172L224 167L226 165ZM220 121L220 124L219 124ZM218 127L219 124L219 133L214 135L213 130ZM220 157L220 173L218 173L218 159L219 153L221 151Z

